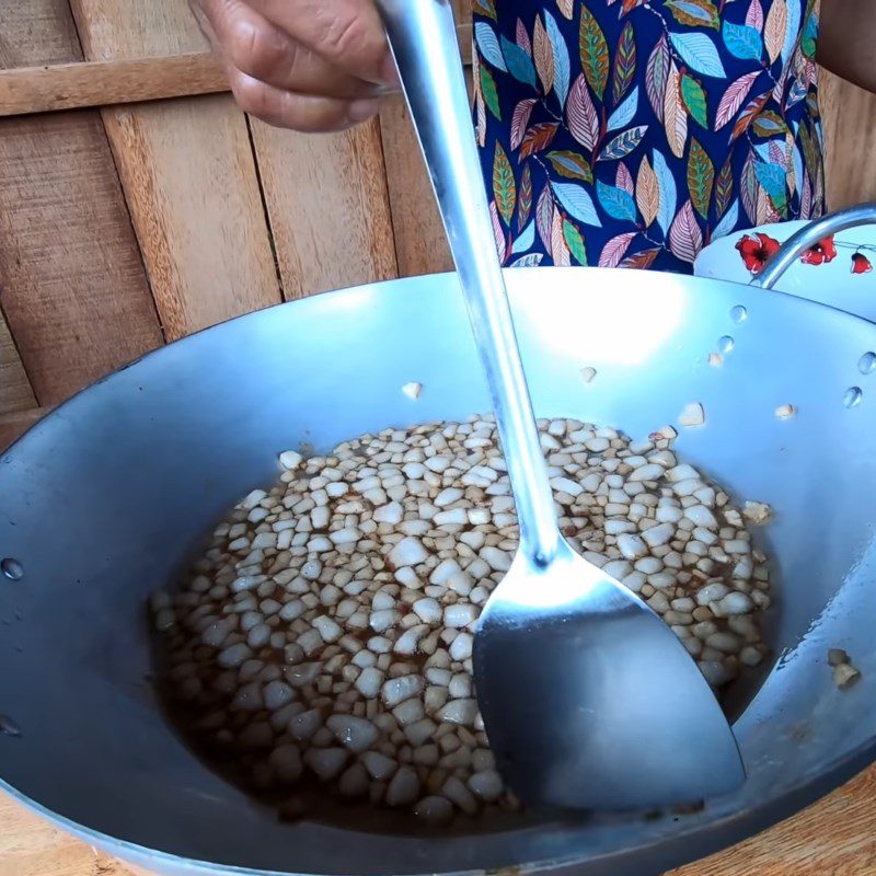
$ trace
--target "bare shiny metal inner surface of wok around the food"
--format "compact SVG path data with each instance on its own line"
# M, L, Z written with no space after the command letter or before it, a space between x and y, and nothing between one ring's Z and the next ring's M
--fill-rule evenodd
M488 410L452 276L310 299L188 338L0 458L0 554L25 570L0 587L0 714L22 730L0 736L0 776L88 830L218 864L382 874L574 862L596 874L620 861L656 871L734 842L863 765L876 729L876 384L857 362L876 347L874 326L668 275L518 269L508 283L540 416L642 437L700 402L706 424L680 430L680 458L776 511L770 639L781 659L735 725L742 791L683 818L518 820L476 842L284 825L205 768L162 715L145 600L243 493L274 480L281 450ZM710 365L726 337L733 350ZM589 384L583 367L597 370ZM410 381L423 384L417 401L401 391ZM851 387L863 397L846 408ZM777 418L783 404L797 415ZM835 689L829 647L852 655L862 683Z

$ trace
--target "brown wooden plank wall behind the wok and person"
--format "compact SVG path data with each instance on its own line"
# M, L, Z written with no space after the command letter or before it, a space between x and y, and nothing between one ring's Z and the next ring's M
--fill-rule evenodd
M876 198L876 99L825 91L831 204ZM279 131L235 107L185 0L2 3L0 447L163 343L449 265L401 97Z

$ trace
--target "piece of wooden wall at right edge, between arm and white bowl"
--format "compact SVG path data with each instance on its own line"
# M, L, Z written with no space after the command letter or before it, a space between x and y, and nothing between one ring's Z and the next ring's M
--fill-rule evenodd
M876 200L876 95L820 71L828 208Z

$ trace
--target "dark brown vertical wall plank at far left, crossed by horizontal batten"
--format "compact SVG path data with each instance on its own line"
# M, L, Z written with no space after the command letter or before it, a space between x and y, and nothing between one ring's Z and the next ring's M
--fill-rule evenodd
M66 0L4 4L2 66L81 59ZM97 113L0 123L0 303L41 404L161 344Z

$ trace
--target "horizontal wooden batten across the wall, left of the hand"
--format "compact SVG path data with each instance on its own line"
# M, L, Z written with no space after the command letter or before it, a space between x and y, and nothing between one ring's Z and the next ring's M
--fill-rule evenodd
M22 67L0 71L0 116L221 91L228 91L228 79L219 61L205 51L170 58Z

